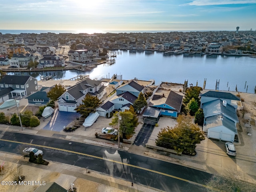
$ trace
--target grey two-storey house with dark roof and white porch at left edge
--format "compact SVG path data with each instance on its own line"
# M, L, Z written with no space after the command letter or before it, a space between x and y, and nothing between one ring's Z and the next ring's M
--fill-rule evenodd
M38 91L36 78L32 76L5 75L0 80L0 90L4 88L12 88L10 91L11 97L28 96Z

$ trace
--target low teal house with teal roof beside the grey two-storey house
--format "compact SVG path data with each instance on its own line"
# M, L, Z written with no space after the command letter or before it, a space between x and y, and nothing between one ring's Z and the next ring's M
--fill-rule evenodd
M50 98L47 97L47 93L50 91L50 87L43 87L40 91L37 91L26 97L28 99L29 106L46 105L50 102Z

